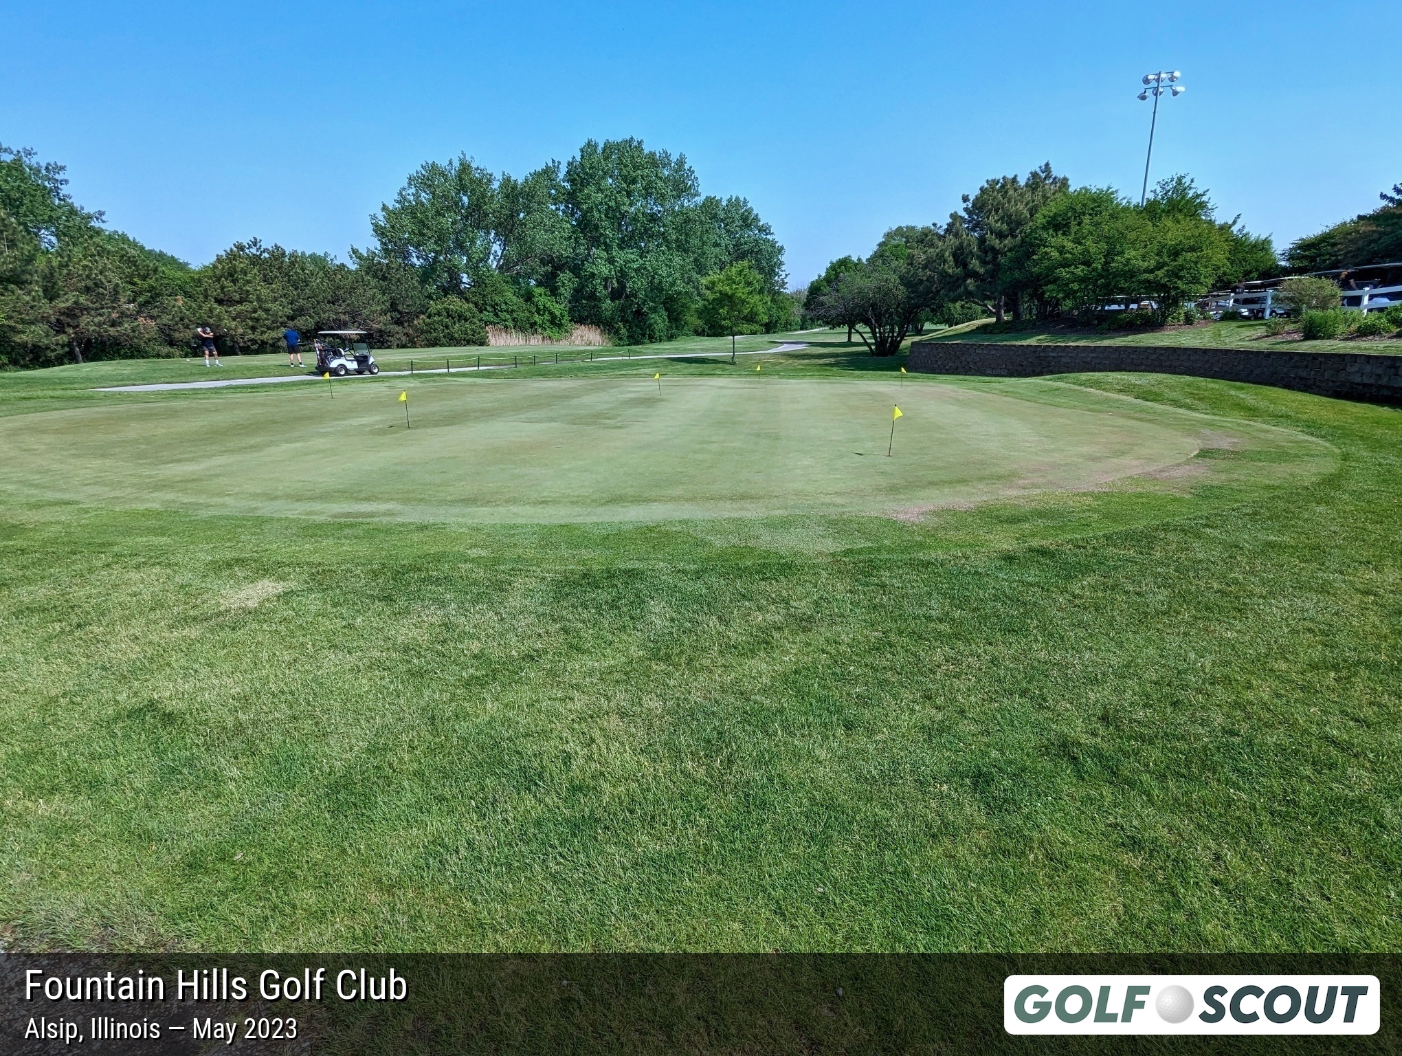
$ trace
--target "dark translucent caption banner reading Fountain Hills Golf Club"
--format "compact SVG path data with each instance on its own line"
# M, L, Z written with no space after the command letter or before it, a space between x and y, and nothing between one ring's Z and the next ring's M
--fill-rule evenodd
M1387 955L6 954L0 1053L1398 1053ZM1012 1036L1009 975L1373 975L1368 1036Z

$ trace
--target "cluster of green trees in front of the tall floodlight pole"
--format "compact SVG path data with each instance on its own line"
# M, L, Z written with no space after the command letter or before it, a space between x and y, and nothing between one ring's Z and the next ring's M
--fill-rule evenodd
M809 283L805 311L893 355L928 321L1094 318L1144 303L1166 323L1213 289L1279 273L1269 237L1218 220L1187 177L1143 205L1071 188L1050 164L988 180L945 223L893 227L869 257L843 257Z

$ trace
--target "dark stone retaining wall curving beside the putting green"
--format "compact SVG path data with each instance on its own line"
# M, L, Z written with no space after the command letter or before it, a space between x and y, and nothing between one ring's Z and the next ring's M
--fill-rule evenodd
M930 374L986 377L1040 377L1092 370L1192 374L1297 388L1343 400L1402 404L1402 355L1367 352L916 341L906 367Z

